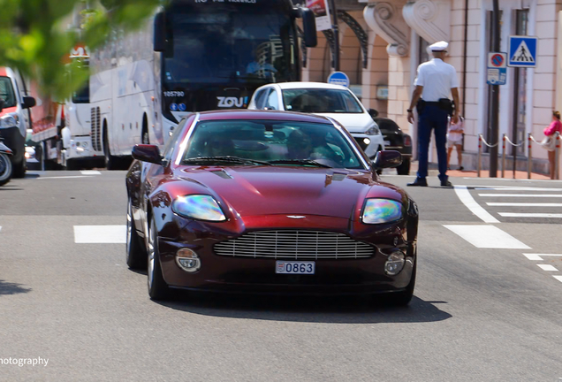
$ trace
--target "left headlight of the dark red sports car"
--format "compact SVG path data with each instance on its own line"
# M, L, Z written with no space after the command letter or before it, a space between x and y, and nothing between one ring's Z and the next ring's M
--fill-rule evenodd
M171 203L171 210L185 218L216 222L226 220L223 210L211 195L178 196Z

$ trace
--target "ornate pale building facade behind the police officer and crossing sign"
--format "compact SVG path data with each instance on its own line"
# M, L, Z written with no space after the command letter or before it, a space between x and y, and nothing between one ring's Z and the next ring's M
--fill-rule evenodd
M427 47L450 43L446 61L459 75L460 113L465 117L463 164L475 169L478 137L491 141L490 86L486 83L492 48L492 0L337 0L340 70L366 107L394 119L416 141L416 126L406 120L416 68L428 60ZM562 38L558 27L562 0L499 0L500 51L507 52L510 35L538 38L535 68L507 68L500 86L498 130L517 146L507 144L506 169L527 170L528 134L543 139L552 111L562 108ZM318 33L318 46L308 49L303 80L326 81L333 71L333 34ZM533 170L548 173L546 150L532 143ZM489 149L482 149L488 168ZM501 142L498 169L501 169ZM415 155L415 149L414 149ZM454 156L453 156L454 157ZM435 152L429 160L437 162ZM452 164L455 164L453 161Z

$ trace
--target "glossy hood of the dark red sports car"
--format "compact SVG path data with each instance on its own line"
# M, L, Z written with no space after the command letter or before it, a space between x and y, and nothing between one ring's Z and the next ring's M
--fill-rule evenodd
M178 194L214 195L241 217L274 214L351 218L366 197L403 200L398 187L368 172L311 167L184 167ZM187 188L186 188L187 187ZM176 195L178 196L178 195Z

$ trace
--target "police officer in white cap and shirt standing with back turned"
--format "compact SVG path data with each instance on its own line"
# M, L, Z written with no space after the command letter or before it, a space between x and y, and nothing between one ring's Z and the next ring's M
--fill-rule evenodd
M437 160L439 162L439 180L441 186L452 187L447 177L446 135L448 117L452 122L459 120L458 106L453 109L449 94L455 105L459 105L459 80L452 65L444 63L447 53L447 42L436 42L429 45L433 59L418 66L418 74L414 80L414 94L408 111L408 122L414 123L414 107L418 111L418 156L419 167L414 183L407 186L427 187L428 181L428 150L431 130L435 129Z

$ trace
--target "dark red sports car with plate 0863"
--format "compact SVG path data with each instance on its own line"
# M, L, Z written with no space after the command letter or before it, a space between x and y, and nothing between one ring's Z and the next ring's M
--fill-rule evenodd
M148 294L414 293L418 210L330 118L208 111L182 119L160 153L137 145L126 176L127 264Z

